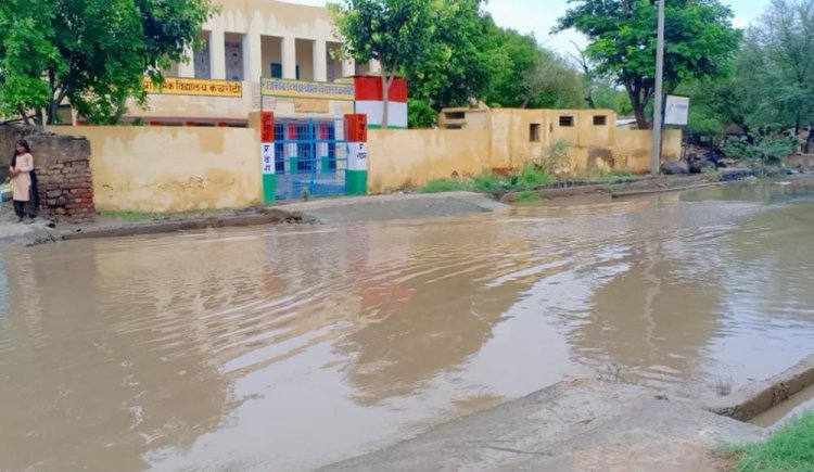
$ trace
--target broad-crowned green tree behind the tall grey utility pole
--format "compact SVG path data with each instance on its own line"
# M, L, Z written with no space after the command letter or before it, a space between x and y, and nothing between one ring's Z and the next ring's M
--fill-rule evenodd
M651 0L573 0L557 30L588 37L587 56L613 75L631 98L639 128L656 91L657 8ZM718 0L666 0L664 90L688 79L725 75L738 49L733 13Z

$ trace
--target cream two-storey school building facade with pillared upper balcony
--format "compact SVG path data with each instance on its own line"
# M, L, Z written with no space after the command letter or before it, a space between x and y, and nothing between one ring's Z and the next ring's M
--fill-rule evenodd
M148 84L142 109L130 103L124 122L176 126L246 126L252 111L281 116L342 116L353 101L269 97L262 80L352 82L380 72L371 61L339 55L342 40L325 8L274 0L215 0L219 11L203 25L199 47L163 71L163 87ZM81 119L78 120L81 124Z

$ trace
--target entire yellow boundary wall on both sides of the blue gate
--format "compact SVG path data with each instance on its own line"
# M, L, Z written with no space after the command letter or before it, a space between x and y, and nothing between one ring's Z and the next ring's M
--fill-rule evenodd
M431 180L473 176L484 169L519 169L558 140L572 143L571 171L615 168L647 173L651 131L615 129L612 113L499 110L479 114L465 129L370 130L368 191L397 191ZM559 126L562 116L570 115L575 126ZM606 116L607 126L596 126L596 115ZM256 120L256 116L250 116L250 128L50 129L90 140L98 209L176 213L260 203ZM533 125L538 136L531 136ZM681 130L666 131L665 160L677 160L681 144Z

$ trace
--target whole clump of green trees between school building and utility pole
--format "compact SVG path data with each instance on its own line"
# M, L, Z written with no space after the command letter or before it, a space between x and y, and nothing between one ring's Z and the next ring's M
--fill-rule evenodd
M484 4L336 0L330 8L338 30L348 38L343 55L379 60L387 84L394 75L405 76L410 98L433 114L479 100L498 107L584 107L578 68L533 35L498 27ZM418 115L410 123L428 126Z

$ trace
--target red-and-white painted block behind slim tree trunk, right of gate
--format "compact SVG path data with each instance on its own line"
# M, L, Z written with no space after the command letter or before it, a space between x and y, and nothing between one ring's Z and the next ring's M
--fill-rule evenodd
M356 86L356 113L368 115L368 129L382 127L384 101L382 78L373 76L354 77ZM407 129L407 80L402 77L393 79L387 101L387 128Z

